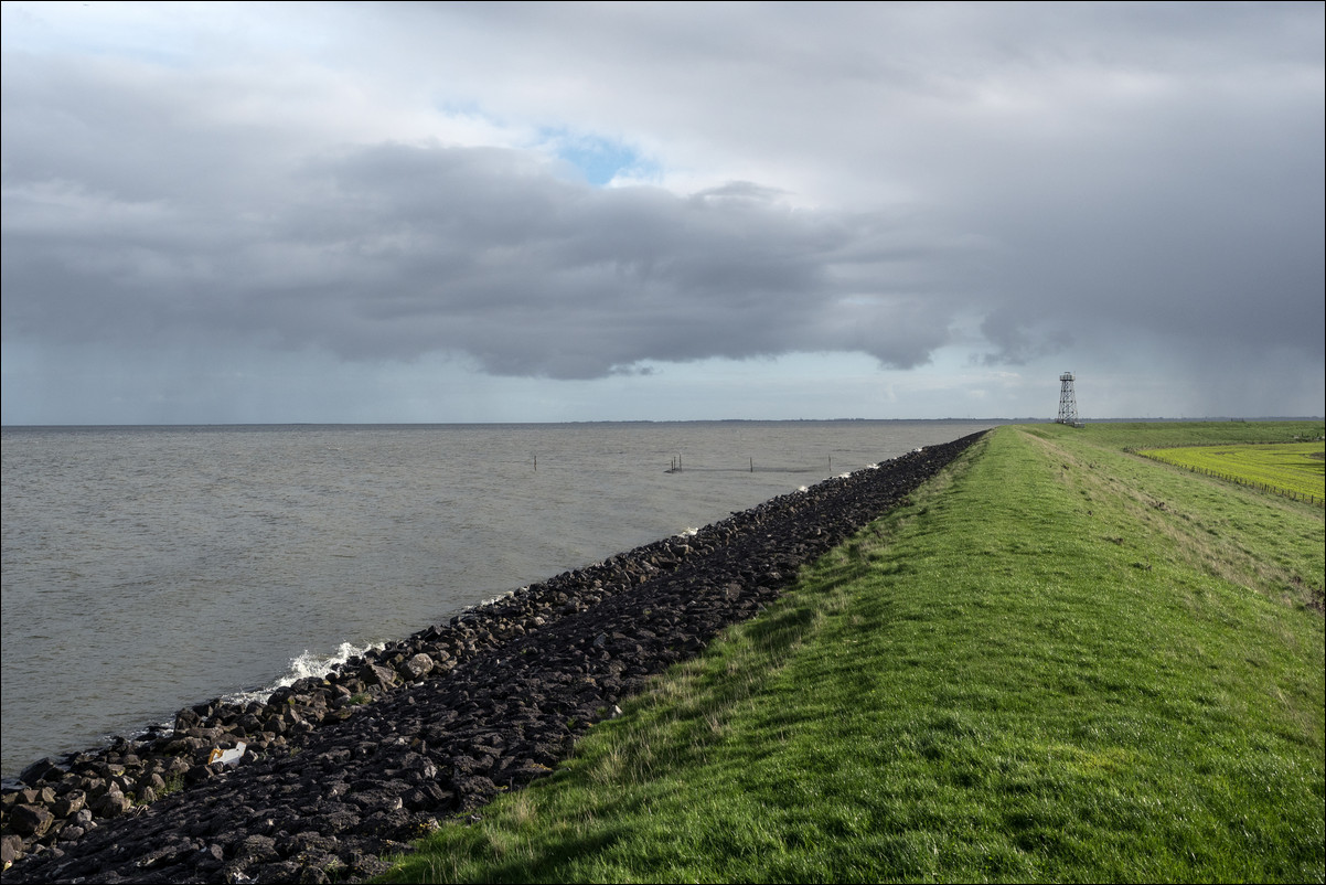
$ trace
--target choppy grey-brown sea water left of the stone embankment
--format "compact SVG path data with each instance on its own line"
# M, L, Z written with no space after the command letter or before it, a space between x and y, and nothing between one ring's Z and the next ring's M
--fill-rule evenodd
M4 429L3 774L987 426Z

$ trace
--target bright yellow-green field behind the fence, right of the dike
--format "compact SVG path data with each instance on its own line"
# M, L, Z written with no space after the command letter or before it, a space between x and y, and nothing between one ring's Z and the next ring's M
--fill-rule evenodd
M1326 443L1321 441L1146 448L1138 454L1318 504L1326 498Z

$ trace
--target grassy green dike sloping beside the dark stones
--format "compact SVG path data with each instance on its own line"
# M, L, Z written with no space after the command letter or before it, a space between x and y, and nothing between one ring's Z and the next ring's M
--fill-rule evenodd
M389 881L1322 881L1322 511L1099 427L991 433Z

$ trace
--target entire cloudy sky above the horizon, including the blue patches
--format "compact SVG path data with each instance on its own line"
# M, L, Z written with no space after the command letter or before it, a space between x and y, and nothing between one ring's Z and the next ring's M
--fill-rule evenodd
M1323 11L4 3L0 419L1322 415Z

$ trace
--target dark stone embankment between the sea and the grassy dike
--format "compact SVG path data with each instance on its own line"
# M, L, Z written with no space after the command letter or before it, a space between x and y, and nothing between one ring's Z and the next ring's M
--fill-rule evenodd
M4 881L373 876L378 854L548 774L622 698L979 437L522 588L265 705L212 701L168 732L41 760L3 795ZM232 764L208 762L240 742Z

